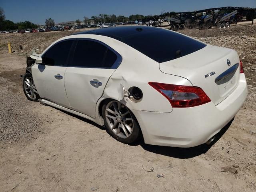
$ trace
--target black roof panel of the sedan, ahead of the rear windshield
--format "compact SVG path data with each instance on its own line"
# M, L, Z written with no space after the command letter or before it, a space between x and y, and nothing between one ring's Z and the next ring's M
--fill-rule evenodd
M136 36L136 34L141 35L144 33L156 32L157 30L164 30L157 27L148 27L148 26L121 26L121 27L108 27L102 29L88 30L72 35L79 34L94 34L94 35L103 35L108 36L117 40L128 36Z

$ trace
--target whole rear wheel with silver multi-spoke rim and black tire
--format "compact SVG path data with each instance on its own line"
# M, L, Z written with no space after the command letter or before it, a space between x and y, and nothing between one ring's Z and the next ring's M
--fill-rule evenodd
M140 127L135 116L121 102L116 100L104 102L102 116L106 130L116 140L131 144L140 139Z

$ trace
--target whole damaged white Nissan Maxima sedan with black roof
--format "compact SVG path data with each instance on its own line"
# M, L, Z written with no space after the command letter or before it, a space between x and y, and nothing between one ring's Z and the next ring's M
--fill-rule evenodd
M126 144L209 144L247 96L236 51L156 27L66 36L27 64L28 100L105 125Z

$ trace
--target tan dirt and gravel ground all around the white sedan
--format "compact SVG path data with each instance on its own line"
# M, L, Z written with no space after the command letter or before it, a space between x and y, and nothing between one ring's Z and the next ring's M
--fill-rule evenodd
M256 26L180 32L234 48L244 62L248 98L212 147L126 145L89 120L28 101L26 54L65 32L1 35L0 191L256 191Z

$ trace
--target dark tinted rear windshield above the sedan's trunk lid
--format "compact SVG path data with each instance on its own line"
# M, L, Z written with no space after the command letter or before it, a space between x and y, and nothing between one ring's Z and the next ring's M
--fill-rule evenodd
M142 29L139 33L123 36L118 40L159 63L188 55L206 46L192 38L164 29Z

